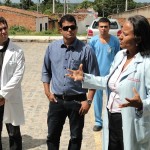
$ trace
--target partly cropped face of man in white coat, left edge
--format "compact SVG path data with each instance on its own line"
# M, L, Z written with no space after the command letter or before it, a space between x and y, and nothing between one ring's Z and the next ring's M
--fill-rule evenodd
M6 24L0 22L0 45L3 45L8 39L8 27Z

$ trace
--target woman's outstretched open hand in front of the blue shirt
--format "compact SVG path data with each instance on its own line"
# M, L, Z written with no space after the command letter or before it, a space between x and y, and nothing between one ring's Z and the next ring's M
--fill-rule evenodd
M66 76L68 76L69 78L72 78L74 81L82 81L83 80L83 70L82 70L83 64L80 64L79 69L78 70L71 70L68 69L69 74L66 74Z

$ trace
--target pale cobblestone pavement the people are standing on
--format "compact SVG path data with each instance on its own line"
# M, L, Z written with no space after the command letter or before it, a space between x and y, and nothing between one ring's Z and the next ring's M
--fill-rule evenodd
M23 150L46 150L48 100L40 81L43 56L48 43L16 42L25 53L26 70L22 82L26 123L21 126ZM101 132L93 132L93 107L85 117L81 150L101 150ZM60 150L67 150L69 141L68 120L61 136ZM3 127L4 150L9 150L8 135Z

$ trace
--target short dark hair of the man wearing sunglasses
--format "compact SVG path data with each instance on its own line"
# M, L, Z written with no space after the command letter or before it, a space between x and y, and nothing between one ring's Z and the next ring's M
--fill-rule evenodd
M64 16L60 19L60 21L59 21L59 26L60 26L61 28L62 28L62 23L65 22L65 21L74 22L75 25L77 25L75 17L72 16L72 15L66 14L66 15L64 15Z

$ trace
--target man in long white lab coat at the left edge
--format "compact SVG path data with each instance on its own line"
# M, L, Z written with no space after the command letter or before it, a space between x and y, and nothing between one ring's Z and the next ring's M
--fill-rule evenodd
M0 150L3 122L10 150L22 150L20 125L24 124L21 81L25 69L22 49L8 38L8 24L0 17Z

